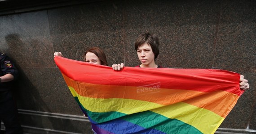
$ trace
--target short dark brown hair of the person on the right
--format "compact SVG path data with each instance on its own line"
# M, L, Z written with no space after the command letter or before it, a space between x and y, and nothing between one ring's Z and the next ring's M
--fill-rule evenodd
M142 33L138 36L137 41L135 42L135 50L137 51L138 47L142 44L147 43L151 46L152 51L154 53L154 60L157 58L159 54L159 39L155 34L150 34L148 32Z

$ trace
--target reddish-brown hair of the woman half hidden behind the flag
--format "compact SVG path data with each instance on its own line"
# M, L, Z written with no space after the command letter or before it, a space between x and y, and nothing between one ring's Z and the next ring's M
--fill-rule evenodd
M91 52L93 54L95 54L100 60L101 60L101 64L102 65L105 65L105 66L108 66L107 65L107 60L106 60L106 55L105 53L98 47L92 47L90 49L88 49L85 53L84 53L84 61L86 60L85 59L85 55L88 53L88 52Z

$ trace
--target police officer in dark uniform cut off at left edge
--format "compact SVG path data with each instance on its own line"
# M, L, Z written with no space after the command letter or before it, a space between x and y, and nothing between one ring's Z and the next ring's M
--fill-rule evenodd
M0 53L0 66L0 120L4 122L5 134L22 134L18 110L11 91L18 70L3 53Z

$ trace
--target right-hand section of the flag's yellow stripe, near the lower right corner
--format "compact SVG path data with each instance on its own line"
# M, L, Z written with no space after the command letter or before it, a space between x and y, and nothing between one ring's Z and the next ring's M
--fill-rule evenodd
M171 119L183 121L194 126L204 134L212 131L212 129L217 129L219 126L218 122L224 120L223 117L210 110L202 109L184 102L153 109L151 111Z

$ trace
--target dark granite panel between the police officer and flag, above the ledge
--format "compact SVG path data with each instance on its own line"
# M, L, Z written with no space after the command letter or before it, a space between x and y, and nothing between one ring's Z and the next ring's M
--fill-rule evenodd
M58 68L25 68L18 83L18 109L83 115Z

